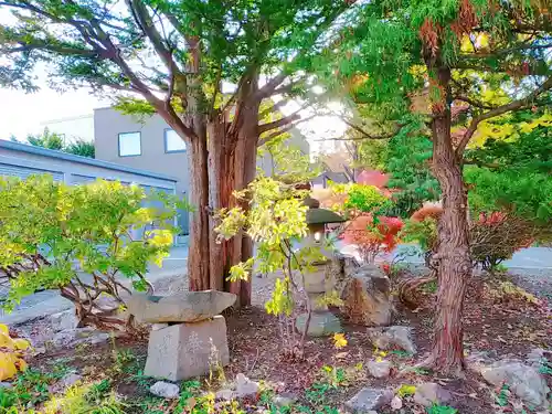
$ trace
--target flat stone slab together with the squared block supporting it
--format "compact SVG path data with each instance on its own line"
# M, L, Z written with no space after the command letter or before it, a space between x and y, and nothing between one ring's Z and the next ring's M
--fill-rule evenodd
M144 373L180 381L229 364L226 322L219 314L235 300L234 294L216 290L132 295L127 304L130 314L153 323Z

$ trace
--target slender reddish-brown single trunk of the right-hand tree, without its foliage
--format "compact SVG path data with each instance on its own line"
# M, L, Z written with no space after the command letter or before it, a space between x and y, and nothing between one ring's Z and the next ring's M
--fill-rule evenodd
M448 91L450 71L439 68L437 76L442 91ZM433 115L433 170L443 192L443 214L437 229L438 291L435 336L428 362L438 372L458 374L464 369L464 296L471 276L467 197L450 139L448 97L434 105Z

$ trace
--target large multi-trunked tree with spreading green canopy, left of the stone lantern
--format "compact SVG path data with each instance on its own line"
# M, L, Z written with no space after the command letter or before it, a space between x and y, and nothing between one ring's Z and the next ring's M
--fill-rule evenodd
M7 59L0 81L32 91L32 70L45 63L56 87L87 85L146 99L141 108L158 113L189 148L195 205L190 287L222 289L230 266L246 259L252 245L242 234L217 245L210 232L215 225L211 212L232 206L233 190L253 179L257 145L298 121L298 114L259 121L275 109L268 105L259 112L261 105L275 95L305 91L298 68L326 47L323 33L349 3L0 1L12 12L0 25ZM224 94L223 84L235 88ZM245 283L225 287L248 301Z

